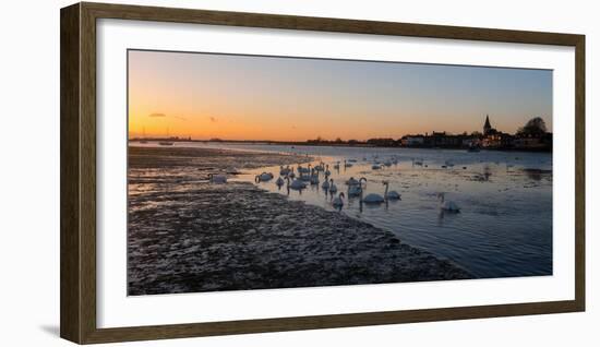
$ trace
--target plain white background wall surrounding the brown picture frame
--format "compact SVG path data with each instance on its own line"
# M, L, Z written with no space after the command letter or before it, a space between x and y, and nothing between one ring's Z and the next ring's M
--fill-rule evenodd
M113 0L112 2L125 2ZM586 313L256 334L137 346L598 346L600 25L596 1L127 1L167 7L549 31L587 35ZM59 324L59 9L2 3L0 345L65 346ZM560 211L557 212L560 213ZM122 344L125 345L125 344ZM133 345L133 344L129 344Z

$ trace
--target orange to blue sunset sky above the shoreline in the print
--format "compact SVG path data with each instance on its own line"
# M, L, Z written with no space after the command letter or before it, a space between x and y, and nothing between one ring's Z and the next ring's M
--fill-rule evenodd
M552 71L129 51L130 137L305 141L552 131Z

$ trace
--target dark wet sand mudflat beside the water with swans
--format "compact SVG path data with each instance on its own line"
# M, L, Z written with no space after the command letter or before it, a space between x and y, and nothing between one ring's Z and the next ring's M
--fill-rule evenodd
M206 180L211 172L310 159L130 147L129 295L471 278L453 263L341 213L288 201L252 183Z

